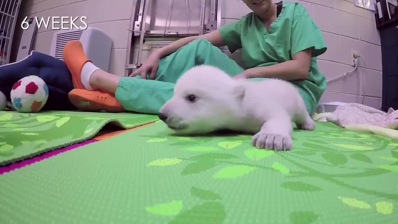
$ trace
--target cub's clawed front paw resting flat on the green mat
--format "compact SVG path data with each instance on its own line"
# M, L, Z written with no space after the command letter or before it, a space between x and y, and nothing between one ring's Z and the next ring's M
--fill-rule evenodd
M290 135L272 134L258 132L252 138L252 145L260 149L273 149L275 151L286 151L292 147Z

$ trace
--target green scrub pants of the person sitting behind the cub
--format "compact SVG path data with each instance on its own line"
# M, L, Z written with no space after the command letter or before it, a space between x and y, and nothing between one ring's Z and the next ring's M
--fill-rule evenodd
M163 104L172 98L174 84L178 78L196 65L213 65L231 76L244 71L218 47L205 39L197 39L160 59L154 80L141 79L140 75L133 78L121 77L115 92L116 99L127 111L158 114ZM251 80L263 79L266 78L252 78ZM308 94L303 90L300 90L300 94L306 102L307 110L310 108L309 112L312 113Z

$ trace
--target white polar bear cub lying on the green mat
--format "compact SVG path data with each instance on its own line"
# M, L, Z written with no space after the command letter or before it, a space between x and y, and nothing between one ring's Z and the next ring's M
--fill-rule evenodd
M291 149L292 122L303 130L315 128L293 84L232 79L209 65L193 67L178 79L159 118L177 134L232 130L253 134L252 145L276 151Z

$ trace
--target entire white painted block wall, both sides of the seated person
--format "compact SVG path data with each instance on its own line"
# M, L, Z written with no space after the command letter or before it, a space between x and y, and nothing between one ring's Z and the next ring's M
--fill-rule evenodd
M350 71L351 50L358 51L365 57L367 67L365 104L380 108L381 51L373 12L356 7L353 0L297 1L304 4L324 35L328 51L318 58L318 65L326 78L331 79ZM102 29L113 39L109 69L115 75L124 75L132 0L31 0L29 2L27 6L29 9L26 12L29 16L86 16L89 26ZM239 19L248 12L249 8L242 0L223 0L222 24ZM34 49L49 53L54 32L41 28L35 38ZM228 50L224 52L229 53ZM239 60L239 52L234 53L233 57ZM363 66L363 63L360 65ZM328 84L321 102L361 102L362 98L358 96L361 94L361 72L355 72Z

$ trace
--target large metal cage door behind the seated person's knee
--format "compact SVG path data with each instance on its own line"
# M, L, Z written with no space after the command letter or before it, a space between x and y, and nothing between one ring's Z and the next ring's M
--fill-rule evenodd
M133 7L126 69L142 65L143 51L214 31L221 23L221 0L135 0Z

